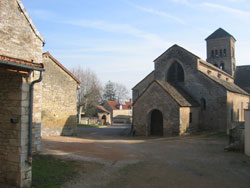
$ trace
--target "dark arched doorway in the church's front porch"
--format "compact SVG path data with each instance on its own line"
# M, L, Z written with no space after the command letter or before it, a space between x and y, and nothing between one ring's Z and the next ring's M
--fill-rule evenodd
M163 116L159 110L151 113L150 130L153 136L163 136Z

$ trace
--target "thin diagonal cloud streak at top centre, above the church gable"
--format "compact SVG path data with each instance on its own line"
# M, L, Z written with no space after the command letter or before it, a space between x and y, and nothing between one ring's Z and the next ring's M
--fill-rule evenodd
M134 7L136 7L139 10L142 10L144 12L150 13L150 14L154 14L154 15L157 15L157 16L162 16L162 17L174 20L174 21L176 21L178 23L181 23L181 24L186 24L184 20L182 20L182 19L180 19L180 18L178 18L176 16L173 16L171 14L168 14L167 12L155 10L155 9L152 9L152 8L146 8L146 7L142 7L142 6L138 6L138 5L134 5Z

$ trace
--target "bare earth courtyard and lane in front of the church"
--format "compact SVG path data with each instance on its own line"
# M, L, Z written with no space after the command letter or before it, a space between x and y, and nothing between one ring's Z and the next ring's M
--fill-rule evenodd
M65 188L250 187L250 158L225 152L226 137L128 132L129 126L80 128L78 137L44 137L42 153L93 164Z

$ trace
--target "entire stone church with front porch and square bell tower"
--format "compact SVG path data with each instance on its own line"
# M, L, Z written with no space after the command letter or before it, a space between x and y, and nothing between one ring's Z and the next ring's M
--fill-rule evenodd
M234 77L241 77L235 75L236 40L219 28L206 42L207 61L173 45L154 61L154 71L133 88L136 135L228 131L244 121L250 95L238 86L241 81L235 84ZM248 68L240 67L240 72L250 74Z

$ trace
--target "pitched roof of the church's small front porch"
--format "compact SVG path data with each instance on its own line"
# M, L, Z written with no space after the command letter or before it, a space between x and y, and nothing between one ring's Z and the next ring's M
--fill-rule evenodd
M148 88L153 84L156 83L159 85L167 94L169 94L179 106L181 107L196 107L199 106L199 104L190 96L188 95L184 90L182 90L177 85L171 85L168 82L162 81L162 80L154 80L149 84L149 86L145 89L145 91L136 99L134 104L138 101L138 99L143 96L145 92L147 92Z

